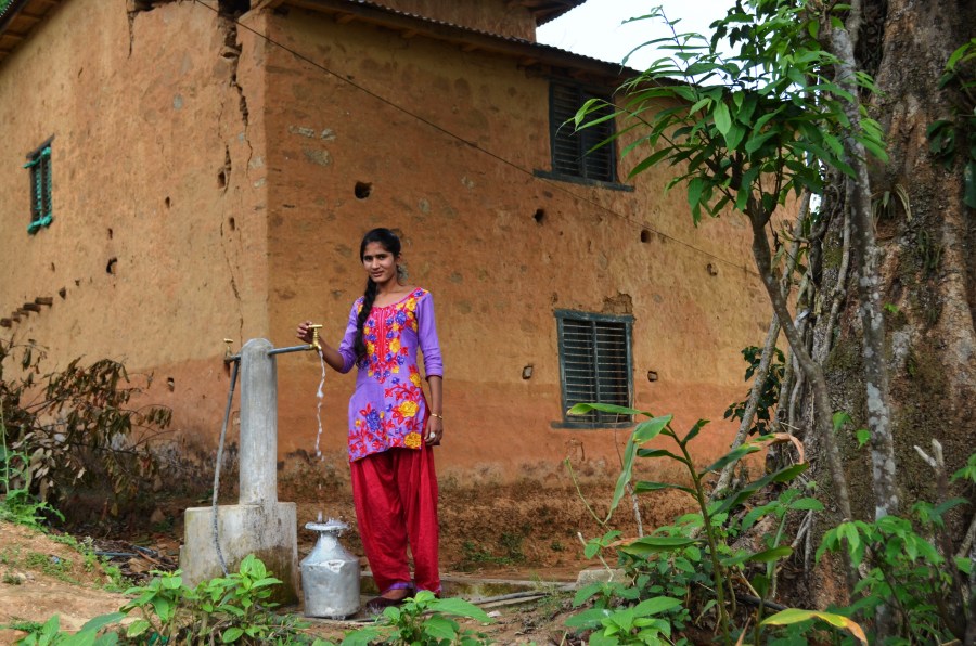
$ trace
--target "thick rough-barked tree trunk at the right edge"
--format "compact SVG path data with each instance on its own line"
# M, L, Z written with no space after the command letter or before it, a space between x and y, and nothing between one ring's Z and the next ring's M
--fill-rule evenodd
M874 224L881 251L877 293L886 310L882 351L896 484L907 499L902 508L908 508L917 500L938 502L963 493L939 491L928 466L914 454L914 444L938 439L950 474L976 447L976 218L963 203L963 163L955 159L945 168L929 154L926 138L932 122L953 119L966 100L952 88L939 88L938 80L950 54L972 38L976 3L864 0L861 9L857 64L874 75L879 88L865 100L869 114L886 133L890 155L887 165L872 166L871 184L875 204L887 204L876 211ZM965 105L972 115L973 105ZM824 275L836 275L829 270L843 257L838 228L834 225L824 241ZM853 261L859 267L848 295L857 293L863 271L864 259ZM822 287L829 293L833 285ZM859 316L850 297L846 306L836 328L824 328L829 316L818 321L818 336L837 338L825 362L834 408L850 412L858 426L869 426L873 412L861 375L873 322ZM855 439L845 434L839 441L847 471L869 473ZM874 517L871 481L849 482L855 517ZM949 516L960 540L972 514L964 506Z

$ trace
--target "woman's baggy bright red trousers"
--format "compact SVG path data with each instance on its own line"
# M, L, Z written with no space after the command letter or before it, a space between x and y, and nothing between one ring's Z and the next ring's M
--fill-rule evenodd
M418 590L440 592L437 567L437 475L434 451L389 449L349 464L362 546L381 594L411 582L407 544Z

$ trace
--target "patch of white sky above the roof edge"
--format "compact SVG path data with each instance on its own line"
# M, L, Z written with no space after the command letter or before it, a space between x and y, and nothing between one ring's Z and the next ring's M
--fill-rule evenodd
M631 17L646 15L660 5L668 20L680 18L679 33L710 35L708 25L724 15L731 0L588 0L585 4L548 23L536 31L539 42L608 63L620 63L637 46L670 34L658 20L621 25ZM634 54L628 67L645 69L663 54L645 48Z

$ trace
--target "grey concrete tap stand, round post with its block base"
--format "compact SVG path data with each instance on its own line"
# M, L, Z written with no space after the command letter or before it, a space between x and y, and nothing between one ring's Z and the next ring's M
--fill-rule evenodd
M248 554L260 558L283 585L273 600L298 603L298 514L295 503L278 502L278 371L273 346L251 339L241 349L241 494L236 505L217 507L220 551L229 571L237 571ZM183 514L180 547L183 582L222 577L214 545L213 507Z

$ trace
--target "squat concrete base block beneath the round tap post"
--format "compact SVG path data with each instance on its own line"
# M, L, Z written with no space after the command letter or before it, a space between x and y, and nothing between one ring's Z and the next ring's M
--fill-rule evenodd
M183 513L185 533L180 546L180 569L190 587L222 577L214 545L213 507L191 507ZM272 600L298 603L298 511L295 503L219 505L217 530L220 551L229 571L237 571L248 554L260 558L282 585Z

